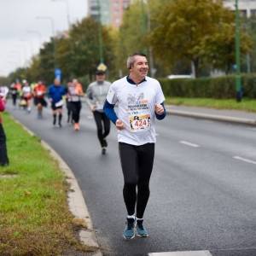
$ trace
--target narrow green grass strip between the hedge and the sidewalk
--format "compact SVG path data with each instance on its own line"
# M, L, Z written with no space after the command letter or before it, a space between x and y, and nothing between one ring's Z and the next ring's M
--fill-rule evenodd
M218 100L205 98L172 98L167 96L165 104L218 109L236 109L256 113L256 100L244 98L241 102L236 102L236 99Z

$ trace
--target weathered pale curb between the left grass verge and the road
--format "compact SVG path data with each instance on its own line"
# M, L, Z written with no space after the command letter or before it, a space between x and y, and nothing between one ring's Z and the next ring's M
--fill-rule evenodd
M14 119L12 116L10 116ZM32 131L30 131L26 126L22 125L18 120L14 119L15 122L22 126L22 128L27 131L31 136L37 136ZM87 230L80 230L79 239L84 242L84 244L89 247L99 248L99 245L96 240L95 231L93 230L93 224L90 218L90 213L86 207L84 196L79 188L79 183L76 180L76 177L73 175L72 170L67 166L64 160L61 159L61 156L55 152L53 148L49 146L48 143L45 143L41 140L41 145L49 150L49 154L58 161L61 172L64 172L66 175L66 181L70 184L71 192L67 193L67 201L70 212L73 213L74 218L82 218L87 225ZM102 252L98 249L93 256L102 256Z

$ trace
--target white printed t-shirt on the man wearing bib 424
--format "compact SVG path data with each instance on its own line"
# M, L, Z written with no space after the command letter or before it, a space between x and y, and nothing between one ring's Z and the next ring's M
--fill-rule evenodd
M155 143L154 104L164 102L165 96L157 80L145 79L141 84L130 84L125 77L109 88L108 103L118 102L118 118L125 124L124 130L118 130L119 143Z

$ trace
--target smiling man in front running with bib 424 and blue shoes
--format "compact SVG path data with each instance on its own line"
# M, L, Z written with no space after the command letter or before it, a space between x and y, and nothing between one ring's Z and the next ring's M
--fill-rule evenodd
M128 212L124 237L131 239L135 236L135 227L137 236L148 236L143 214L154 162L154 117L164 119L166 109L160 83L147 77L147 56L129 55L127 67L130 74L110 86L104 111L118 129L119 158L125 181L123 195ZM119 117L114 112L116 103Z

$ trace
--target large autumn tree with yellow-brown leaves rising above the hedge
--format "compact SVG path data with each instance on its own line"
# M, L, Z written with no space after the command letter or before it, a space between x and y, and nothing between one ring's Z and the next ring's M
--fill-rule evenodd
M183 59L193 62L195 76L200 76L200 67L208 44L206 38L216 37L219 24L234 23L234 15L224 8L223 0L172 0L154 20L158 26L148 39L154 52L173 65Z

